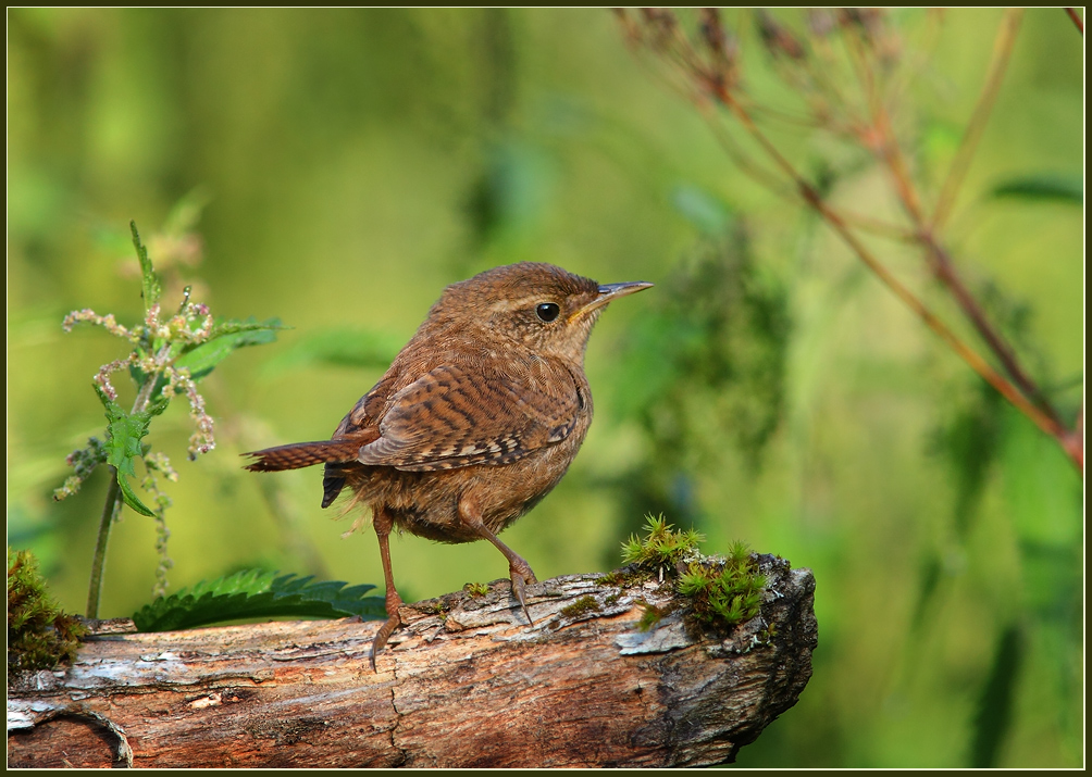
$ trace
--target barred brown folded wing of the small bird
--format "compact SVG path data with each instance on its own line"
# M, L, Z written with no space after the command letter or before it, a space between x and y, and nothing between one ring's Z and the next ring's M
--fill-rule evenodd
M509 464L567 438L583 404L568 370L550 380L486 379L440 367L391 397L379 439L358 461L410 471Z

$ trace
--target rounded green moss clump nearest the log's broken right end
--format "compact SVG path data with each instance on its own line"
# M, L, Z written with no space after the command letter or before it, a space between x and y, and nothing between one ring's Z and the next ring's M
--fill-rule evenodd
M676 589L692 602L692 615L705 626L724 627L759 613L765 576L743 542L735 542L724 565L692 562L679 575Z

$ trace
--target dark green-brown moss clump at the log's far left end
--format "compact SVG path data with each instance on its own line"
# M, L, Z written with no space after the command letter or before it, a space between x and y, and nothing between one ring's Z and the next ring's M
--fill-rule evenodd
M74 615L61 612L50 599L31 551L9 548L8 676L72 661L86 633Z

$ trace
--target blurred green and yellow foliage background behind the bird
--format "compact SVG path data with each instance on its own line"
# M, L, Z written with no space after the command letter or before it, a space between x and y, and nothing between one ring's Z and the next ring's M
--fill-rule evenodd
M791 98L753 20L726 20L751 89ZM926 191L999 20L888 20L917 68L895 110ZM1028 12L948 230L1069 419L1083 394L1082 47L1060 10ZM140 315L129 219L161 230L167 304L193 283L216 314L294 327L202 384L214 452L186 461L185 403L153 427L181 476L171 590L249 565L381 583L370 531L343 540L348 522L319 510L319 470L259 477L238 454L329 437L444 285L547 261L657 287L603 316L587 441L505 536L539 578L617 566L649 512L697 527L708 552L738 538L814 570L815 676L740 766L1082 764L1080 477L823 225L740 176L608 12L9 9L8 68L8 541L34 549L64 608L84 609L106 474L50 494L64 456L102 433L92 374L126 351L60 321ZM776 139L828 171L840 204L895 217L867 159L804 131ZM1076 200L992 193L1028 177L1076 181ZM193 243L162 230L202 202L203 260L187 264ZM878 244L957 321L916 252ZM150 599L154 543L153 522L127 511L103 617ZM507 573L484 542L403 537L392 552L410 600Z

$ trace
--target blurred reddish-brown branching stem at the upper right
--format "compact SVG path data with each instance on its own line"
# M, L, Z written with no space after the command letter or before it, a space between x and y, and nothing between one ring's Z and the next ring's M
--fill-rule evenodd
M1067 9L1070 10L1071 9ZM1083 31L1079 19L1075 22ZM918 315L919 319L963 359L978 375L996 388L1018 410L1025 415L1045 433L1058 441L1066 454L1083 473L1083 411L1072 429L1067 429L1058 410L1049 403L1043 391L1024 370L1014 349L1001 333L987 319L982 306L971 294L960 276L950 253L938 238L940 227L947 219L956 201L960 186L971 165L974 152L978 146L983 130L996 100L998 89L1008 61L1012 53L1016 35L1019 31L1022 11L1011 9L1006 11L994 43L994 51L987 76L983 84L975 109L964 133L960 148L941 187L933 217L927 218L922 206L922 198L914 184L910 166L903 154L894 132L890 115L880 97L881 79L875 71L874 61L882 53L877 53L883 47L883 31L878 12L843 10L836 14L836 23L843 28L843 40L846 43L847 55L857 71L862 84L867 117L850 116L841 123L835 123L835 108L852 113L844 98L836 100L836 106L827 105L822 98L818 105L809 103L814 120L819 125L826 125L838 134L846 135L845 128L852 128L848 136L853 138L873 153L888 169L892 188L911 222L911 229L902 235L895 228L891 235L895 239L907 237L918 243L924 250L926 263L934 277L948 289L952 299L959 306L963 315L978 333L983 343L1000 362L1008 378L998 372L974 349L968 346L956 333L933 313L902 282L900 282L856 237L853 229L865 229L876 224L866 225L859 219L851 219L840 215L822 201L819 193L800 176L793 164L781 153L765 133L752 119L751 111L759 108L752 99L743 99L739 87L738 67L735 61L735 45L729 34L725 32L719 12L705 9L701 12L699 36L702 46L709 50L702 56L701 46L692 44L680 28L678 20L669 11L644 11L639 21L634 21L625 12L618 12L618 17L626 31L631 45L646 45L663 57L667 62L689 80L691 87L688 97L707 115L719 131L719 139L744 172L762 186L779 194L783 193L781 186L771 182L768 174L758 175L758 168L731 139L723 125L713 120L705 110L707 99L711 97L728 110L739 122L750 138L761 147L762 152L781 172L793 183L795 192L805 204L811 207L832 229L850 246L858 259L871 270L903 302ZM643 26L642 26L643 23ZM833 22L832 22L833 24ZM822 36L816 34L815 46L805 46L785 27L780 26L769 14L760 14L759 28L761 38L771 56L780 62L792 62L806 69L808 77L818 87L828 83L828 74L823 68L817 67L808 51L816 48L827 50ZM809 41L810 44L810 41ZM829 57L828 57L829 60ZM829 62L827 63L829 64ZM797 79L798 80L798 79ZM795 83L795 81L794 81ZM797 84L799 85L799 84ZM765 111L762 111L765 112Z

